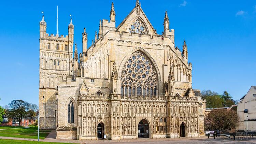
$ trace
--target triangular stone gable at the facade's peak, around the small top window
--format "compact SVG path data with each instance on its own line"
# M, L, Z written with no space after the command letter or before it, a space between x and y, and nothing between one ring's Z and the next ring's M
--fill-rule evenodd
M139 7L139 12L137 12L136 7L129 13L129 15L122 21L122 23L117 27L118 31L125 31L130 32L130 27L132 24L136 23L136 20L139 20L141 22L141 26L145 27L145 33L142 34L148 34L148 35L158 35L151 25L150 21L146 17L143 10Z

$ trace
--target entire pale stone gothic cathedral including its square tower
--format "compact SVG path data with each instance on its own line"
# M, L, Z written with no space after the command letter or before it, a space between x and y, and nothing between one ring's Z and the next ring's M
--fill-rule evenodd
M204 134L205 100L192 88L192 64L184 41L174 44L167 12L157 34L139 0L116 25L100 20L82 53L68 35L46 33L40 21L40 129L56 130L56 139L138 139L199 137ZM161 25L162 23L159 23ZM73 50L74 47L74 50Z

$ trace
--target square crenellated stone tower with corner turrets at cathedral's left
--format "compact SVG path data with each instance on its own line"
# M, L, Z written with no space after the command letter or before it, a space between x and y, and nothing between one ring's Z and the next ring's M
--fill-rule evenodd
M44 16L40 25L39 109L41 129L55 129L57 124L57 76L72 75L74 25L68 25L68 35L46 33Z

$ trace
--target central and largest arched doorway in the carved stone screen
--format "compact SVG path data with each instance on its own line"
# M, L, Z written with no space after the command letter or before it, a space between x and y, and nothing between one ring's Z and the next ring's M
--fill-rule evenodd
M138 137L149 138L149 124L145 119L142 119L138 126Z

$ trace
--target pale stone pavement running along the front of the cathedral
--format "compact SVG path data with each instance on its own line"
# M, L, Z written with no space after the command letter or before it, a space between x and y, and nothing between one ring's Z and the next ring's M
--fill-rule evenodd
M225 139L208 139L207 136L200 138L178 138L178 139L133 139L133 140L56 140L56 132L52 131L44 139L40 140L43 142L62 142L62 143L81 143L81 144L256 144L256 139L254 140L232 140L229 138ZM25 138L11 138L0 136L0 139L13 139L13 140L27 140L27 141L37 141L37 139L25 139Z

